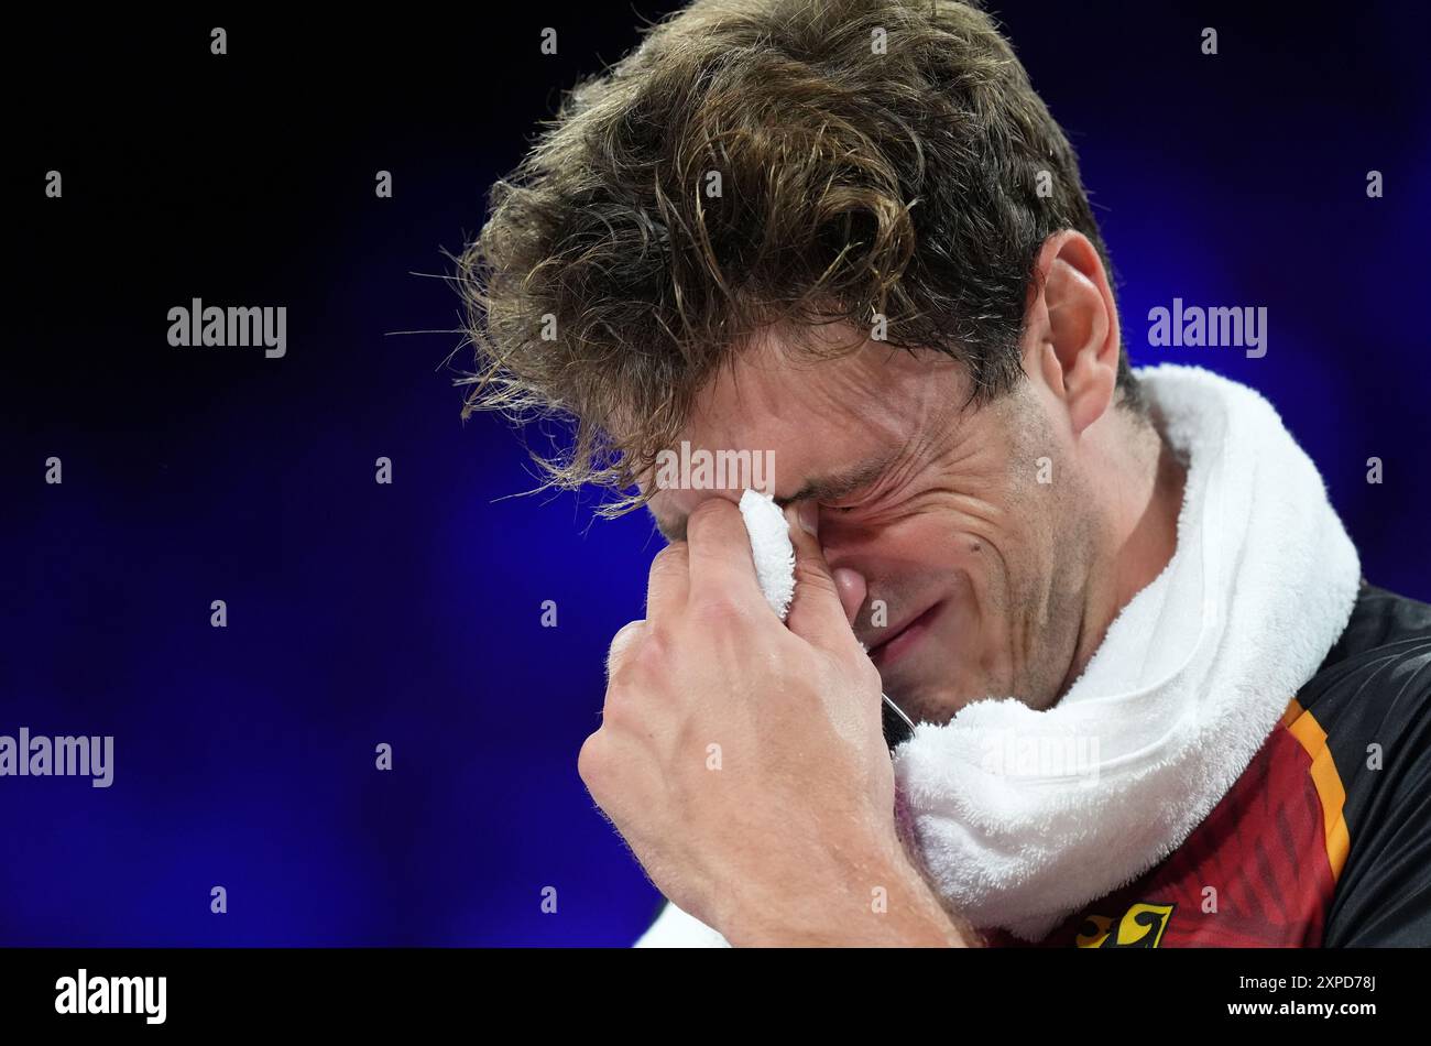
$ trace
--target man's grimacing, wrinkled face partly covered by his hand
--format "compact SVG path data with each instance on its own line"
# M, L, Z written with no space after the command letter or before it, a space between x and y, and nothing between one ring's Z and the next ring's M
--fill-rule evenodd
M1066 683L1096 507L1058 398L1025 371L1017 391L960 409L966 372L946 356L864 342L807 361L771 335L707 386L683 434L693 452L771 451L781 504L874 466L859 489L814 495L820 542L884 691L916 721L985 697L1045 708ZM650 508L684 537L697 504L740 492L660 489Z

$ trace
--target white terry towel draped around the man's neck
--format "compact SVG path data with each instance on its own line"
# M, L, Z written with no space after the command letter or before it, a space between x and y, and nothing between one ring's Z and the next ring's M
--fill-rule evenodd
M1052 708L1012 697L920 724L896 780L936 889L1039 940L1182 844L1351 617L1361 565L1321 476L1256 392L1199 368L1139 376L1189 458L1178 548ZM1065 777L1019 756L1078 753ZM668 904L640 946L721 944Z

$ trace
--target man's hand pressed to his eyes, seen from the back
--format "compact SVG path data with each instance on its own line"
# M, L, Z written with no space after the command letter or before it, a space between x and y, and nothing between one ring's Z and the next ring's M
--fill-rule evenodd
M733 944L960 943L896 834L879 671L817 535L791 538L781 627L740 509L691 512L611 642L581 777L657 889Z

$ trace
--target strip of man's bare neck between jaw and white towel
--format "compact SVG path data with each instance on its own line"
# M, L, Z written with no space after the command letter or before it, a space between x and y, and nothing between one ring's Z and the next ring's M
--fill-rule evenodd
M1118 464L1103 475L1109 504L1106 539L1095 557L1083 607L1083 624L1069 673L1059 688L1068 693L1102 645L1113 620L1138 592L1151 585L1178 551L1186 469L1156 426L1125 416Z

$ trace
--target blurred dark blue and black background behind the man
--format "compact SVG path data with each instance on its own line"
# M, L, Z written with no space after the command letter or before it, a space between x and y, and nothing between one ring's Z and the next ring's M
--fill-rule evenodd
M1265 392L1367 577L1431 598L1425 36L1400 4L1241 7L997 10L1080 152L1135 362ZM116 773L0 778L0 944L625 944L658 901L575 760L661 539L591 495L501 499L532 474L459 422L458 335L391 333L456 326L412 273L451 272L637 17L405 16L13 27L0 734L113 734ZM170 348L192 296L286 305L288 356ZM1149 349L1175 296L1265 305L1268 355Z

